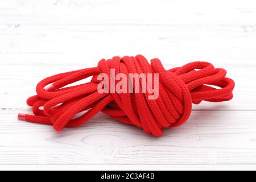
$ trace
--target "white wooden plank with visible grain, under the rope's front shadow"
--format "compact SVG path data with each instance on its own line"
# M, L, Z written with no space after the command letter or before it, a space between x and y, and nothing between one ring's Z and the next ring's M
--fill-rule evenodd
M98 114L76 129L18 122L1 111L1 164L255 164L255 111L193 111L160 138Z

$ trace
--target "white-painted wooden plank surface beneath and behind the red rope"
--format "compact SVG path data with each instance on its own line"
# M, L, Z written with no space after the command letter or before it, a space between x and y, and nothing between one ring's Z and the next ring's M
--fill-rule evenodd
M166 68L202 60L236 81L234 98L193 105L160 138L98 114L76 129L21 122L44 77L142 54ZM0 165L256 164L256 1L0 2ZM186 166L184 165L184 166Z

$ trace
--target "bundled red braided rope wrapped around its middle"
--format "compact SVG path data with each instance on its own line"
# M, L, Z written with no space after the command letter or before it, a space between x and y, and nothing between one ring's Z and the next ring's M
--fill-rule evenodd
M99 93L97 76L100 73L110 76L110 68L115 69L116 74L159 73L158 99L148 100L147 93ZM90 76L93 78L86 84L66 86ZM159 59L152 59L150 65L142 55L102 59L98 67L61 73L40 81L36 86L37 95L27 100L34 115L19 114L18 118L53 125L61 131L64 127L82 125L102 111L118 121L141 127L148 134L160 136L164 127L179 126L187 121L192 103L231 100L234 81L225 76L225 69L200 61L167 71ZM82 111L86 112L76 117Z

